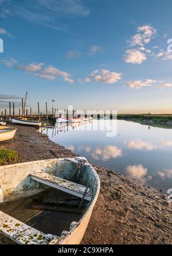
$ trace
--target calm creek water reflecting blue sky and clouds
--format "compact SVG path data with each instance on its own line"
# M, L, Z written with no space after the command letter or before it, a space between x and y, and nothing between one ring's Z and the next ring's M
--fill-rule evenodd
M105 130L91 130L103 126ZM107 137L113 127L115 137ZM87 129L87 130L86 130ZM57 125L45 130L50 140L86 157L94 164L162 189L172 188L172 130L126 121L93 121L83 125ZM111 135L108 134L108 135Z

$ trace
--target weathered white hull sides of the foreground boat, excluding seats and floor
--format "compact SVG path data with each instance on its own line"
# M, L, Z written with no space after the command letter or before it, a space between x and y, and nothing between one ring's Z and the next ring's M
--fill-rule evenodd
M76 168L78 165L79 160L85 160L83 164L84 170L80 174L79 184L83 183L84 186L92 188L92 200L88 202L87 209L85 209L83 217L81 217L77 224L69 229L65 235L52 240L49 244L79 244L81 242L99 195L100 180L96 171L83 157L77 157L77 159L34 161L0 167L1 198L6 202L16 198L29 197L30 195L40 193L41 190L45 190L45 187L38 188L36 182L30 182L29 176L32 172L37 173L41 170L46 174L56 174L61 177L70 176L73 172L73 168Z

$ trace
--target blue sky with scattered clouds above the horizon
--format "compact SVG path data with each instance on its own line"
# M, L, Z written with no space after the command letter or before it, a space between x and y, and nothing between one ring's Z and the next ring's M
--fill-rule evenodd
M0 0L0 108L172 113L171 0ZM171 39L171 40L170 40Z

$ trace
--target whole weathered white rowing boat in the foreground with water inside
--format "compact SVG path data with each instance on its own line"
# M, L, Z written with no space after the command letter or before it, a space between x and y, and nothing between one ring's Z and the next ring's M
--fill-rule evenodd
M100 190L99 177L86 159L7 165L0 167L0 180L1 234L19 244L81 242Z

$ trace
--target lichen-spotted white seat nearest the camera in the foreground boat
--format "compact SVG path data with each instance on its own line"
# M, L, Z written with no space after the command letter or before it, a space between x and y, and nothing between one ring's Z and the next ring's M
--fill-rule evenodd
M51 240L57 239L56 236L45 235L1 211L0 233L18 244L49 244Z

